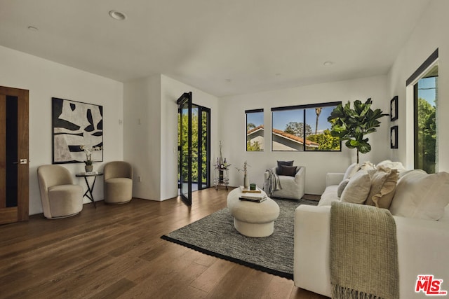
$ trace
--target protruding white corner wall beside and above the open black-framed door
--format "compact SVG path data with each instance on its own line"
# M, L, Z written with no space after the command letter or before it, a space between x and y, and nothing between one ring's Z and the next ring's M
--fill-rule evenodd
M184 92L192 92L194 104L211 109L210 134L215 151L217 97L163 75L125 83L125 160L135 166L135 197L167 200L177 196L176 101Z

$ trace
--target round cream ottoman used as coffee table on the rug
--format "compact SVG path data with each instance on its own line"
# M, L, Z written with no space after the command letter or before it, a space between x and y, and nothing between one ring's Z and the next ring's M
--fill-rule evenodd
M235 188L227 195L227 207L234 216L234 228L248 237L272 235L274 221L279 216L278 204L271 198L263 202L246 202L239 200L240 195L240 188Z

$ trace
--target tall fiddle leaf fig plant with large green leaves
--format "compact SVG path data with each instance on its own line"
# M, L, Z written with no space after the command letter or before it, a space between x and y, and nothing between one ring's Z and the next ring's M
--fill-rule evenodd
M358 152L371 151L369 139L365 135L376 132L376 127L380 127L379 118L388 115L382 113L380 109L371 109L371 104L373 104L371 98L365 103L360 100L354 101L354 108L351 108L351 102L347 102L344 106L339 104L328 117L328 122L332 124L330 134L346 140L344 145L347 148L356 148L357 163L359 162Z

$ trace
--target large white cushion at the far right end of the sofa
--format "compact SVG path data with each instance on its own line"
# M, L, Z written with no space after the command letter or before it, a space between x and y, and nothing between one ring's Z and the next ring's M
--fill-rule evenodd
M415 169L398 181L390 211L395 216L438 220L449 204L449 173Z

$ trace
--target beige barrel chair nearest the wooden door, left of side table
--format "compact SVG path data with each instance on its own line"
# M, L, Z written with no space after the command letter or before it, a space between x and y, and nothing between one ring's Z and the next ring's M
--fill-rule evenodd
M72 174L60 165L42 165L37 169L43 216L65 218L83 209L83 188L75 185Z

